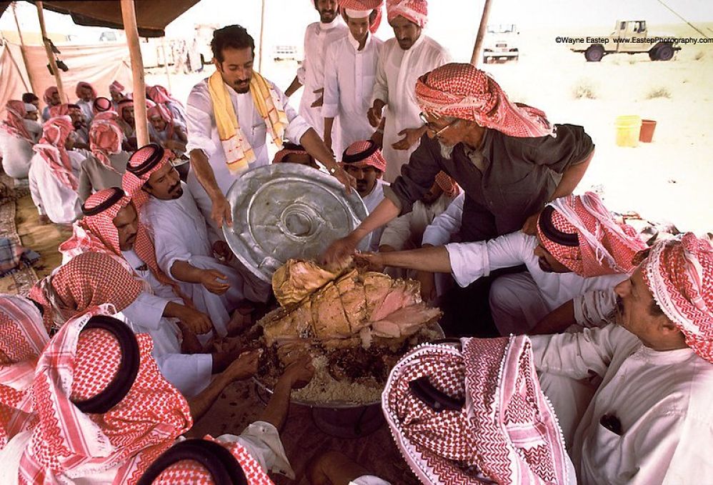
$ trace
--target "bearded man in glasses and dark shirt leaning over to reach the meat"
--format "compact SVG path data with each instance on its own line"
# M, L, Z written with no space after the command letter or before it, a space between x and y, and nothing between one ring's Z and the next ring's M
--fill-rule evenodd
M440 171L465 193L460 240L487 241L519 229L534 234L544 205L572 194L589 166L594 144L582 126L552 126L542 111L509 101L494 79L470 64L446 64L415 86L427 136L384 192L382 204L327 249L328 264L353 253L366 234L411 211ZM450 292L442 306L447 317L492 321L487 295L497 276Z

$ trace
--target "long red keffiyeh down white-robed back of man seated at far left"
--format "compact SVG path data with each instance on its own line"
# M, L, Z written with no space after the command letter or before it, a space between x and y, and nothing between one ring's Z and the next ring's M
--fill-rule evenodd
M76 191L79 182L72 171L71 160L64 144L74 131L69 116L50 118L42 125L42 138L32 147L46 161L56 179Z

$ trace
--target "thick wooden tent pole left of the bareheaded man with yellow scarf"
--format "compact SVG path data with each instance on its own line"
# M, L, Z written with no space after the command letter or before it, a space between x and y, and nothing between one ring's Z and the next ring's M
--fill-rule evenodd
M121 19L124 20L126 44L129 44L131 77L134 80L134 122L136 123L136 143L149 144L149 121L146 118L146 84L144 83L144 59L141 58L139 30L136 29L136 9L134 0L121 0Z

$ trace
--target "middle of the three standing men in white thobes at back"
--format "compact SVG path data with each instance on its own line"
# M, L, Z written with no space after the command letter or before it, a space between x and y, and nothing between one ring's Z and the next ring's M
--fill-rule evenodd
M374 128L367 119L379 51L384 42L369 32L372 9L345 9L349 34L326 49L324 67L324 143L337 156L358 140L369 139ZM334 128L334 119L341 120Z

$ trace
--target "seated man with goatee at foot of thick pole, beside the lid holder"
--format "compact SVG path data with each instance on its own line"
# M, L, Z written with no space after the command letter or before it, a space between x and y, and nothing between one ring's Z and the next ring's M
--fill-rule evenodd
M224 241L209 239L206 220L171 165L172 156L159 145L142 146L126 167L124 191L141 224L151 228L161 271L210 317L217 334L226 336L241 326L237 309L245 300L243 279L215 258L216 252L223 257L232 253Z

